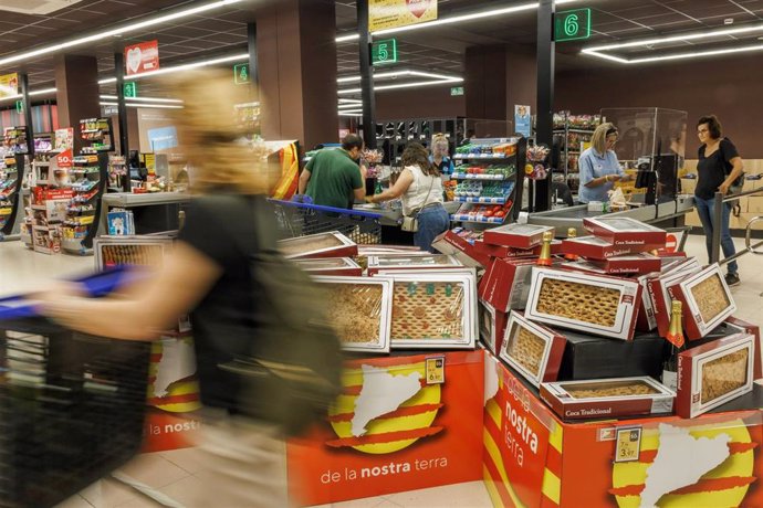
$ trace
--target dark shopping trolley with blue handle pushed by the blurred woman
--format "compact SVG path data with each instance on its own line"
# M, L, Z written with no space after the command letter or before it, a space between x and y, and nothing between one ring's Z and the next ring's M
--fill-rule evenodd
M126 271L81 281L94 296ZM139 449L150 343L75 332L0 299L0 507L50 507Z

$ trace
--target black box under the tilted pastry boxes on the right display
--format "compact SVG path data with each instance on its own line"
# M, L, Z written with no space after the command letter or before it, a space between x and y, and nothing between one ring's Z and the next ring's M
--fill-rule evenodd
M585 380L633 375L659 379L662 374L665 339L657 334L636 334L634 340L562 331L567 346L560 380Z

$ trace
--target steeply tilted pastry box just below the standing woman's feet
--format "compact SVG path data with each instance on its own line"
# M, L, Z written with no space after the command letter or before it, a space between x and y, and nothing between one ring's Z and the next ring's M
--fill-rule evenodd
M689 340L701 339L736 311L736 304L718 264L668 287L683 303L683 331Z

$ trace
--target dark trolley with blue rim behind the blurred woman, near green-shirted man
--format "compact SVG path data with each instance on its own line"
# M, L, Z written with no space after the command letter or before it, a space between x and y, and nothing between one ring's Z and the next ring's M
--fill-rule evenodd
M338 231L358 245L382 243L382 215L295 201L269 200L275 209L279 232L291 239Z

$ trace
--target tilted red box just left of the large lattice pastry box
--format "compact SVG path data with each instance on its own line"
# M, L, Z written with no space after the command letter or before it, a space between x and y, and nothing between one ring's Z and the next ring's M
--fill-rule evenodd
M523 309L535 258L493 258L478 287L479 297L497 310Z

